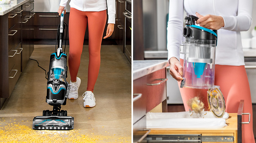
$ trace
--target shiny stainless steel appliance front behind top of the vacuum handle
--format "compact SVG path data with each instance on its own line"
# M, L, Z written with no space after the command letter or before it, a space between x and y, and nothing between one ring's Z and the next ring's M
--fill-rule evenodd
M34 12L57 12L61 0L35 0ZM65 7L66 12L70 11L70 0Z

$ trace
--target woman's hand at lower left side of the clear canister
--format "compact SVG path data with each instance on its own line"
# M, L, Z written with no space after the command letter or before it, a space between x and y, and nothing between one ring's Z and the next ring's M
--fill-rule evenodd
M170 58L170 75L178 82L183 80L182 73L183 67L180 65L180 61L175 57Z

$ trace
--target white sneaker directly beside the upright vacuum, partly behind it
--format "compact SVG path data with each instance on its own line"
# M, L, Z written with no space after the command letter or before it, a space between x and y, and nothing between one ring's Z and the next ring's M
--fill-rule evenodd
M76 77L76 82L69 83L69 94L67 96L68 99L78 99L78 89L80 87L81 79Z

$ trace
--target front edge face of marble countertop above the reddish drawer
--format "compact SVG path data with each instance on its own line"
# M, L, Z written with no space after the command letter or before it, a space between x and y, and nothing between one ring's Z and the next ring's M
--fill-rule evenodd
M160 63L156 63L154 65L150 65L150 66L135 70L133 71L133 80L137 80L138 78L144 77L145 75L161 70L162 68L166 68L167 66L169 66L169 64L168 64L168 61L166 60Z

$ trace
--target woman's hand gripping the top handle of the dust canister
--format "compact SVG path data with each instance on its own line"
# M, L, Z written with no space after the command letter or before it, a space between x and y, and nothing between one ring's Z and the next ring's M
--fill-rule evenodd
M218 30L221 27L224 27L224 20L221 16L210 14L202 16L197 12L195 13L195 15L199 18L196 20L196 24L199 24L204 28Z

